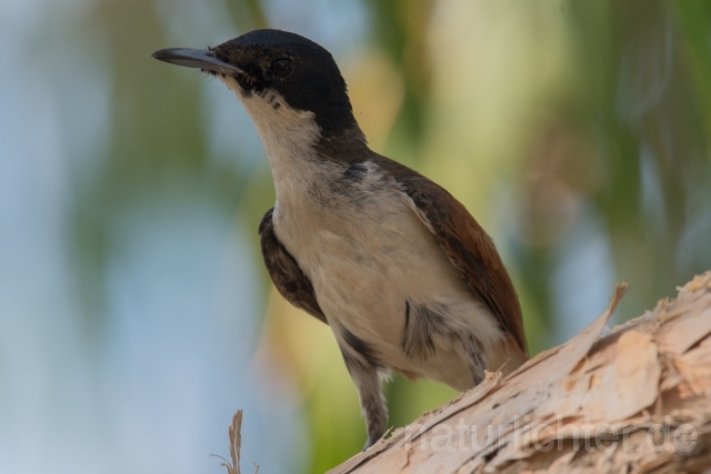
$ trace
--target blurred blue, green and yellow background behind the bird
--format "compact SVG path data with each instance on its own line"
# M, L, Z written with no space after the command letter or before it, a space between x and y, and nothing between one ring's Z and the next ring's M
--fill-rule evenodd
M149 59L254 28L307 36L371 147L494 238L531 352L630 291L622 322L711 269L705 0L1 0L0 472L320 473L364 440L328 327L261 263L256 130ZM395 377L391 424L455 393Z

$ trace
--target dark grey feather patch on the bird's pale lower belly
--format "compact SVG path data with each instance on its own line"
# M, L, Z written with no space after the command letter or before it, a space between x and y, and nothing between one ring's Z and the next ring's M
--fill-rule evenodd
M447 332L447 323L438 307L404 302L404 330L400 346L409 359L424 361L434 355L432 336Z

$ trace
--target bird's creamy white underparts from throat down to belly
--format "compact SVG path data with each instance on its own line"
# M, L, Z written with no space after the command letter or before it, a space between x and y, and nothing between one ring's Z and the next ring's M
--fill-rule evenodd
M348 160L319 157L313 113L291 109L270 91L246 95L234 79L218 78L257 125L274 178L274 232L311 280L341 347L362 359L343 340L347 330L387 366L470 387L470 366L451 337L434 334L433 355L421 360L402 349L408 304L438 307L450 327L475 334L484 356L503 337L439 246L427 216L375 163L365 161L353 179L348 164L339 164Z

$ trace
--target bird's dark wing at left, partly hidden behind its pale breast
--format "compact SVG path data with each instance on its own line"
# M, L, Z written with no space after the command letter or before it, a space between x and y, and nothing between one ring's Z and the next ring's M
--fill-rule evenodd
M273 208L267 211L259 224L262 256L269 276L288 302L328 324L316 300L311 281L274 234L273 211Z

